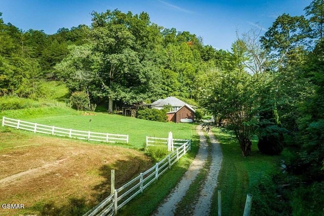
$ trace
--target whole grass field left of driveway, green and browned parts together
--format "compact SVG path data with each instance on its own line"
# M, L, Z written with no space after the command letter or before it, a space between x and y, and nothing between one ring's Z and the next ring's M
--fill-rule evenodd
M158 183L153 184L152 188L155 187L159 196L149 205L146 211L149 212L179 181L198 149L195 125L192 124L76 112L67 107L6 110L0 116L77 130L90 128L97 132L127 133L130 136L129 145L116 145L1 127L0 201L23 203L25 209L0 209L0 215L80 215L108 195L110 169L116 169L116 187L120 187L151 167L149 158L138 151L144 147L146 135L167 137L172 131L175 138L192 138L192 151Z

